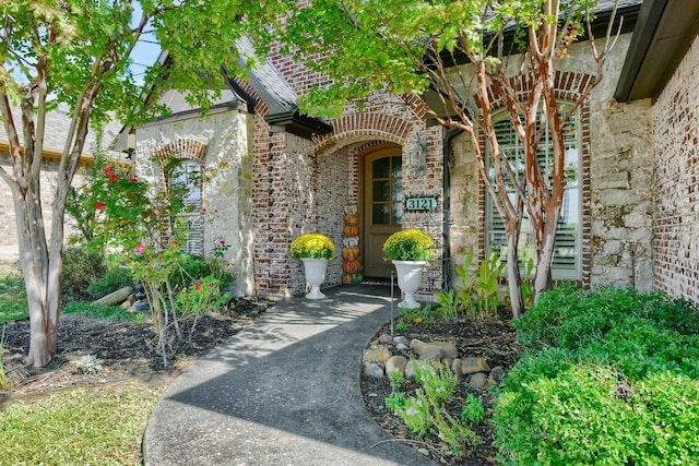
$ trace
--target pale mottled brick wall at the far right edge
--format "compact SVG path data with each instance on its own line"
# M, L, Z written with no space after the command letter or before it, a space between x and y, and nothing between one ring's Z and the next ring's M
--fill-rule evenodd
M653 106L655 287L699 302L699 37Z

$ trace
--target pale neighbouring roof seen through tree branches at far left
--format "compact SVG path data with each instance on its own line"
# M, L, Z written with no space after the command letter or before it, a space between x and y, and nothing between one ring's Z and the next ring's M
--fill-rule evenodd
M24 132L22 129L22 111L19 107L12 108L12 117L17 129L20 142L24 141ZM57 109L46 113L46 130L44 135L44 150L54 153L62 153L66 144L66 134L70 130L71 115L69 113L68 106L59 105ZM117 122L109 122L105 124L104 141L110 143L115 136L119 133L121 126ZM83 155L91 155L97 150L97 138L95 131L88 131L85 139L85 151ZM8 134L4 130L4 124L0 124L0 144L8 143Z

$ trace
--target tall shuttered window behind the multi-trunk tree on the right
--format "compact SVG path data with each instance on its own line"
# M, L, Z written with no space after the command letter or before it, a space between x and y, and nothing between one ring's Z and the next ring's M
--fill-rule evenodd
M510 120L508 118L501 119L495 127L502 152L512 162L517 177L523 176L524 150L517 139ZM564 127L564 143L566 145L565 191L552 263L554 279L581 279L580 226L582 224L582 192L580 183L580 116L576 113ZM553 148L548 131L538 143L537 154L544 174L550 180L553 176ZM508 191L511 193L511 198L514 199L514 190L511 186L508 186ZM505 256L507 254L505 225L489 193L487 194L486 216L486 249L499 250ZM519 258L522 262L529 261L530 258L536 261L534 231L526 207L524 207L520 234Z

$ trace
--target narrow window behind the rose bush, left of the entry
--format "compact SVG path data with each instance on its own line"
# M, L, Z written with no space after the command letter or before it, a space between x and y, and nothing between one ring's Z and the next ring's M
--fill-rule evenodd
M181 163L170 171L170 189L183 204L182 214L171 219L173 235L181 237L180 244L189 254L203 254L201 165L192 160Z

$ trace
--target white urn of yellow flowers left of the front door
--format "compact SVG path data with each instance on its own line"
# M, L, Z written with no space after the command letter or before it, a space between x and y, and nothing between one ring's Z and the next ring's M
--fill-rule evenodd
M321 234L301 235L292 241L292 256L304 262L306 282L310 285L310 292L306 295L308 299L322 299L325 297L320 292L320 285L325 279L328 261L335 254L335 246L330 238Z

